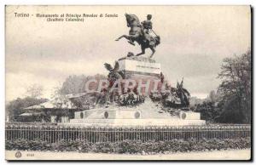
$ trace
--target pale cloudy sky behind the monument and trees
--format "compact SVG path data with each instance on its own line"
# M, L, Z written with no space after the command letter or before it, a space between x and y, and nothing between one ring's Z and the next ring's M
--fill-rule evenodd
M15 17L15 13L30 17ZM26 96L32 84L50 98L70 75L108 74L128 52L139 53L125 39L125 13L143 21L152 14L161 43L153 59L171 84L184 78L192 96L207 97L218 88L218 72L226 57L251 45L249 6L8 6L6 8L6 100ZM33 16L32 16L33 14ZM84 18L84 22L49 22L35 14L118 14L114 18ZM149 56L150 50L144 56Z

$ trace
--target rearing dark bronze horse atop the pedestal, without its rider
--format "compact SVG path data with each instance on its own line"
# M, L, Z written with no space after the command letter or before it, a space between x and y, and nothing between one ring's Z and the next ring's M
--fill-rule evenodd
M128 43L131 43L132 45L135 45L134 42L136 41L139 45L141 45L142 53L137 54L142 55L145 54L145 49L150 48L152 51L152 54L150 55L150 58L152 58L155 47L160 44L160 36L150 36L150 40L146 39L143 36L142 31L142 25L140 21L137 18L137 15L135 14L125 14L127 26L131 27L131 30L129 31L129 36L123 35L119 38L117 38L115 41L119 41L122 37L125 37L128 41Z

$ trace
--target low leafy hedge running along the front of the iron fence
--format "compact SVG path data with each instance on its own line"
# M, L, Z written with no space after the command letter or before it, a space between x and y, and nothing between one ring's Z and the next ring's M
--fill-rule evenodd
M250 138L242 139L194 139L170 141L135 141L125 140L120 142L90 143L82 140L65 141L49 144L45 141L16 139L7 141L6 150L19 151L78 151L94 153L130 153L130 154L155 154L164 152L189 152L189 151L215 151L229 149L245 149L251 147Z

